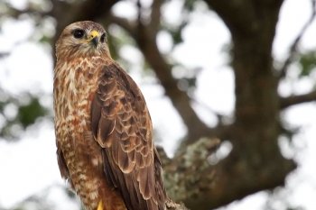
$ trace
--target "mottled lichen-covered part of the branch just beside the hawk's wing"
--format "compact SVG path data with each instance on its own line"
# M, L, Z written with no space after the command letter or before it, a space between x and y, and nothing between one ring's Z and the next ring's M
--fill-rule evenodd
M168 196L186 203L211 191L216 169L209 164L208 158L218 145L218 139L202 138L188 147L181 147L172 160L167 158L163 149L158 148ZM191 207L200 209L199 206Z

